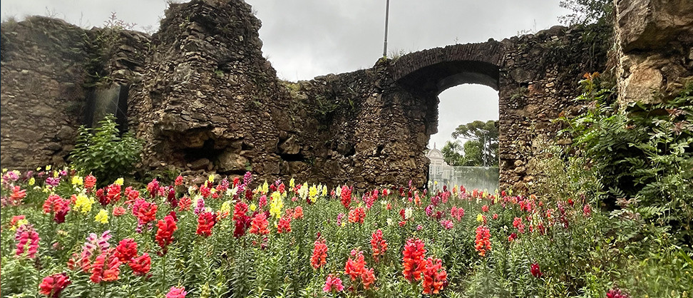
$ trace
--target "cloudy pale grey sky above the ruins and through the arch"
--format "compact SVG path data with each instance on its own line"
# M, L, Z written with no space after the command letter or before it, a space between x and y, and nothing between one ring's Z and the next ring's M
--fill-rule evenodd
M179 0L180 1L180 0ZM386 0L247 0L262 20L262 51L279 78L308 80L327 73L369 68L382 56ZM54 16L91 28L118 19L153 31L165 0L2 0L3 20ZM558 0L391 0L388 48L418 51L454 43L501 40L558 24L567 11ZM462 85L440 95L441 148L461 123L498 119L498 93L486 86Z

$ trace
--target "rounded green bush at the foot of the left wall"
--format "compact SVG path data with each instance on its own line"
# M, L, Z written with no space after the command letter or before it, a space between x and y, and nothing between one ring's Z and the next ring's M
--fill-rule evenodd
M119 136L116 125L113 115L107 115L93 130L81 126L70 155L80 173L92 173L101 184L130 175L140 160L140 141L130 133Z

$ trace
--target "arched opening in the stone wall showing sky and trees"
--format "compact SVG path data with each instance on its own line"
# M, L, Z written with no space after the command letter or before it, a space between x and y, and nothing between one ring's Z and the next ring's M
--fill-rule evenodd
M429 135L426 152L429 188L464 185L468 190L493 191L498 187L499 94L497 89L488 87L491 86L462 83L446 88L436 97L437 121L429 123L436 125L431 128L436 133ZM458 126L478 126L479 122L492 131L453 136Z

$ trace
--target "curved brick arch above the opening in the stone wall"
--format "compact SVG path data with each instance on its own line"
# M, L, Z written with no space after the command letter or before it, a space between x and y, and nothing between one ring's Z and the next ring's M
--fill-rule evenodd
M498 41L487 41L418 51L397 59L391 75L402 86L436 96L463 83L499 90L502 48Z

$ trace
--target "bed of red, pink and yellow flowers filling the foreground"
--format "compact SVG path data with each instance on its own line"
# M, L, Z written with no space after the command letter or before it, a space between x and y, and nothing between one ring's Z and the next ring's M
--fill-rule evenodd
M356 194L250 173L96 189L91 175L44 168L5 171L1 200L3 297L627 297L693 284L666 235L647 250L615 240L612 219L579 197ZM682 269L657 271L669 267L648 264L650 252ZM638 287L650 273L622 275L633 269L676 280Z

